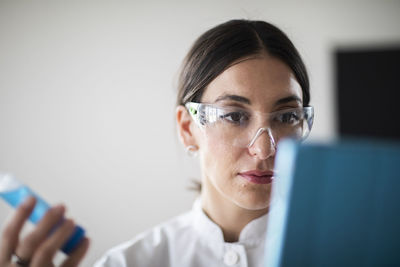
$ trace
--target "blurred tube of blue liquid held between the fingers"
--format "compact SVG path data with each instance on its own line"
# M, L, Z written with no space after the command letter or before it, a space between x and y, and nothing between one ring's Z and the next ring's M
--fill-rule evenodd
M29 217L29 220L37 224L50 206L34 193L28 186L22 184L12 175L8 173L0 173L0 197L3 198L12 207L17 208L29 196L36 198L36 205ZM85 237L85 230L79 225L75 226L75 230L67 242L61 248L66 254L70 254L80 241Z

